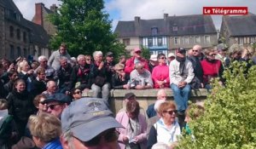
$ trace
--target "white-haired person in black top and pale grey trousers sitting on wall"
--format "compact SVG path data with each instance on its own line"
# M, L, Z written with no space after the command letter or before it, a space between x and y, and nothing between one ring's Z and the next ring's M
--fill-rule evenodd
M99 98L102 96L102 99L108 100L110 94L110 82L111 77L108 77L108 68L104 65L102 51L95 51L93 53L93 75L94 83L91 85L93 90L93 97Z

